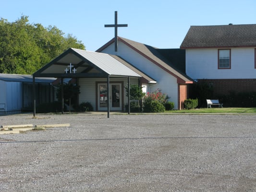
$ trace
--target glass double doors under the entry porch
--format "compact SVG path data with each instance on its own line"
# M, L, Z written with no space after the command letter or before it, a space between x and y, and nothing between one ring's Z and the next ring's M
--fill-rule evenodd
M122 84L110 84L110 110L122 110ZM98 110L108 109L108 86L98 84Z

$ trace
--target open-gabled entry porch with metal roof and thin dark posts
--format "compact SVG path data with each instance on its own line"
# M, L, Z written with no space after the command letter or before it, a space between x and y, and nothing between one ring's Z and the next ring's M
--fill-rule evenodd
M96 110L107 111L108 118L110 116L110 110L123 110L125 96L124 86L126 86L126 84L129 90L131 81L136 84L154 81L117 56L69 48L33 74L34 116L36 115L36 77L59 78L61 79L62 85L64 78L78 79L81 90L89 90L88 87L86 88L85 84L94 87L95 93L87 95L88 97L86 97L86 99L94 99ZM120 81L120 79L122 79L122 81ZM129 91L128 94L130 94ZM128 106L130 106L129 98L130 96L127 98ZM80 100L81 99L79 99L79 101ZM130 113L129 109L130 107L128 107L128 113Z

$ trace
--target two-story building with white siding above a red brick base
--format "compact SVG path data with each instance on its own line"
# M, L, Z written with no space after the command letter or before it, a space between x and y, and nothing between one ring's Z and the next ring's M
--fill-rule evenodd
M186 74L215 95L256 91L256 24L191 26L181 48Z

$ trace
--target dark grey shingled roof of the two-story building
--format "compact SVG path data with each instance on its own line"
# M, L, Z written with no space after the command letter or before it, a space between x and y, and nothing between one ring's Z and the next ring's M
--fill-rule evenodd
M191 26L181 48L256 47L256 24Z

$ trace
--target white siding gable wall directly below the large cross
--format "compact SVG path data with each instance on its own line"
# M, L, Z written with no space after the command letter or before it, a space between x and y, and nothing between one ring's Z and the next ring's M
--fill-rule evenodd
M170 73L165 72L153 62L138 54L134 49L129 48L122 42L118 42L118 54L114 51L114 44L105 48L102 52L109 54L117 54L124 60L132 63L136 68L155 79L157 84L148 84L148 92L154 92L161 89L162 93L170 97L170 101L174 102L174 108L178 108L178 84L177 79Z

